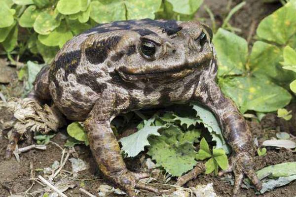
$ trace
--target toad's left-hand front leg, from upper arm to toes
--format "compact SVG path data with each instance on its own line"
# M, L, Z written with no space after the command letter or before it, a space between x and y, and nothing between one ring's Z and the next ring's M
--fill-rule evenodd
M103 174L111 179L120 188L125 190L130 197L135 197L135 188L158 193L139 179L149 177L148 173L134 173L129 171L120 154L120 147L111 130L110 122L113 114L113 102L100 99L85 121L90 148L97 164Z

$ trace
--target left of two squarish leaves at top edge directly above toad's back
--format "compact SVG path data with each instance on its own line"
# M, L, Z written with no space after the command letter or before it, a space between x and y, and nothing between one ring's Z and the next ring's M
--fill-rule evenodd
M125 5L122 0L94 0L90 6L90 18L97 23L126 20Z

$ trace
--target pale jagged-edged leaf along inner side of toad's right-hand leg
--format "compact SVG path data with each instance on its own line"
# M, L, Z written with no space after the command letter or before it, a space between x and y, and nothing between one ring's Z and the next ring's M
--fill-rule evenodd
M226 144L222 131L219 127L219 123L217 122L214 114L197 102L192 102L190 105L192 105L192 108L196 111L196 116L201 119L200 123L208 129L213 137L213 140L216 141L216 148L222 148L227 154L229 154L231 152L231 148Z

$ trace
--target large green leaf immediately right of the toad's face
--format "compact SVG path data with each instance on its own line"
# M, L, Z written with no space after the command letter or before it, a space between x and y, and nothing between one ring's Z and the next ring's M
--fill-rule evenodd
M222 28L214 35L219 75L242 74L248 57L248 43L238 35Z

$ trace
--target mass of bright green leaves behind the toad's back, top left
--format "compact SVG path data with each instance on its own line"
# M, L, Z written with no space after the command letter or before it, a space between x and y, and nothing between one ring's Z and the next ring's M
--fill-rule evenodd
M0 43L8 57L27 49L50 63L74 35L98 23L192 19L203 0L1 0ZM5 20L2 20L5 19Z

